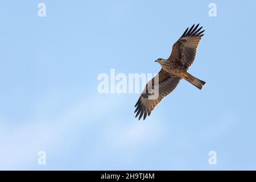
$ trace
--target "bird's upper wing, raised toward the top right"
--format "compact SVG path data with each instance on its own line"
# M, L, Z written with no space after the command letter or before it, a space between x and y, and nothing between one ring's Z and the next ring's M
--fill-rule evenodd
M189 30L188 28L185 30L179 40L172 46L172 53L168 58L169 61L180 61L185 69L188 69L195 60L197 46L201 36L204 35L202 34L204 30L200 31L203 27L198 28L199 24L194 27L195 24Z

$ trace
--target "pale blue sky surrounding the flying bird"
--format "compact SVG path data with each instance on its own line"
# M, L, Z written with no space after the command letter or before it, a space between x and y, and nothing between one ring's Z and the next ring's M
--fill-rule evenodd
M211 2L217 17L208 15ZM255 7L1 1L0 169L256 169ZM111 68L157 73L154 60L194 23L205 35L189 72L207 82L203 90L183 80L139 122L139 94L97 92L98 74Z

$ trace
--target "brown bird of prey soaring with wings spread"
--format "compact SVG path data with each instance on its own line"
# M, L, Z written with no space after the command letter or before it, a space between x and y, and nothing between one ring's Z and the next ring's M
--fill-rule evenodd
M185 30L179 40L172 46L171 56L168 59L160 58L155 60L155 62L162 66L162 69L158 75L146 84L139 97L134 111L134 113L137 112L136 118L139 115L139 119L143 116L144 120L147 115L149 116L155 106L176 88L181 79L187 80L200 90L206 84L206 82L199 80L187 72L195 60L197 46L201 37L204 35L202 34L204 30L201 31L203 27L198 27L199 24L196 26L193 24L191 28ZM158 82L156 82L156 77ZM151 99L150 96L155 94L152 93L152 90L155 92L155 89L158 89L158 97Z

